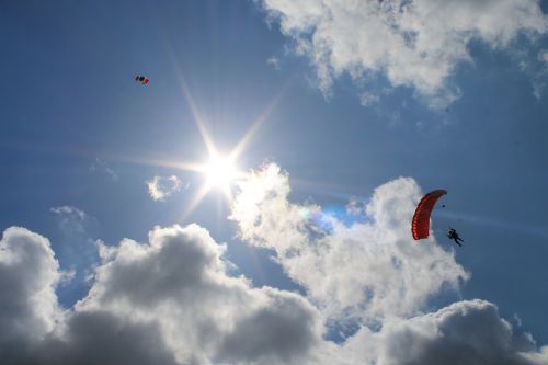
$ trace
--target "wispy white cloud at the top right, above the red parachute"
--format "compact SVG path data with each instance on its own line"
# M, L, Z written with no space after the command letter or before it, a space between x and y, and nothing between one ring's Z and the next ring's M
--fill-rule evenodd
M431 106L459 96L449 82L468 44L481 41L510 49L521 34L546 34L548 19L537 0L263 0L271 22L295 43L317 70L329 94L343 73L355 81L384 77L392 87L412 87Z

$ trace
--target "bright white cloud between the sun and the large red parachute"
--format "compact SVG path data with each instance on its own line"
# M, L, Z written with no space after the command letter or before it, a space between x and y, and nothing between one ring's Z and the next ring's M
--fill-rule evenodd
M330 318L376 322L411 316L442 288L458 289L469 277L434 238L413 241L409 221L422 193L410 178L377 187L367 204L351 202L350 210L367 219L350 227L319 206L290 203L288 175L276 164L252 173L240 187L231 217L240 237L273 249L287 275ZM324 225L317 225L317 216Z

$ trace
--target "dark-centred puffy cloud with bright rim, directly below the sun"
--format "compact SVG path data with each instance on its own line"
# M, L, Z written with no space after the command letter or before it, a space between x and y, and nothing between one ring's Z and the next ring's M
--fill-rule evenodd
M318 317L305 299L274 288L253 289L246 278L229 277L221 259L225 247L205 229L156 228L149 241L103 248L103 265L79 310L130 311L153 320L182 363L290 363L319 340ZM248 340L237 341L241 337Z

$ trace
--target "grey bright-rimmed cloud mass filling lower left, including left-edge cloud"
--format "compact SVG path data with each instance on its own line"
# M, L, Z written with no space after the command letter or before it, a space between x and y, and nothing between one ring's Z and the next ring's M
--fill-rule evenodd
M101 246L90 294L60 312L48 241L10 228L0 251L0 355L10 364L301 364L321 341L301 296L228 276L225 247L191 225Z

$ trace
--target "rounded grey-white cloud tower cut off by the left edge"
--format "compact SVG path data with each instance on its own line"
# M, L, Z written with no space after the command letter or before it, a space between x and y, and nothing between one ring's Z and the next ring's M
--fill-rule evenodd
M0 241L0 358L18 358L60 318L55 286L59 265L49 241L25 228L8 228Z

